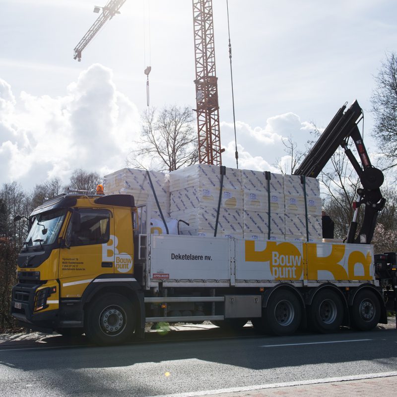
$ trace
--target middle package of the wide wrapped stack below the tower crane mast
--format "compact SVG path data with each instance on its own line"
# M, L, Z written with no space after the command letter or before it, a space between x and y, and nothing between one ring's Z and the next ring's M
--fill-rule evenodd
M171 192L171 211L198 207L217 207L219 188L192 187ZM222 189L221 208L243 209L243 191Z

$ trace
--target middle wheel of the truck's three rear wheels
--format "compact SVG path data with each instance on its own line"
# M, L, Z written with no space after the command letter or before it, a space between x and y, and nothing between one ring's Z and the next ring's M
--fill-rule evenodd
M336 331L343 321L343 303L334 291L319 291L309 310L310 324L319 332Z

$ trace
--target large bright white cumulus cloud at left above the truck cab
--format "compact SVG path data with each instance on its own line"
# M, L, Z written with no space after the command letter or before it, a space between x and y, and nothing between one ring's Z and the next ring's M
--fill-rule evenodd
M7 170L0 183L66 182L79 167L104 175L125 166L138 131L135 105L104 66L90 66L55 98L22 92L15 100L0 80L0 164Z

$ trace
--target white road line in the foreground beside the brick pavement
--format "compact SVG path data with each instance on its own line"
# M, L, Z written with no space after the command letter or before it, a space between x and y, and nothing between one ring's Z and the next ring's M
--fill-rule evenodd
M250 391L253 391L253 390L261 390L261 389L275 389L275 388L283 388L283 387L288 387L288 386L315 385L315 384L318 384L318 383L359 381L359 380L362 380L362 379L387 378L387 377L390 377L390 376L397 376L397 371L380 372L380 373L377 373L377 374L360 374L360 375L351 375L351 376L341 376L341 377L336 377L336 378L311 379L311 380L308 380L308 381L269 383L267 385L255 385L255 386L246 386L246 387L230 388L230 389L205 390L205 391L201 391L201 392L187 392L187 393L166 394L166 395L158 395L158 396L151 396L151 397L196 397L196 396L208 396L208 395L211 395L211 394L250 392Z

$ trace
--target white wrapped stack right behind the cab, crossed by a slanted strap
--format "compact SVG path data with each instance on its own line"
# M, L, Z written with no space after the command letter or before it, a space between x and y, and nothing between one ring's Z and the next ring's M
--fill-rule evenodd
M163 215L168 217L170 216L169 174L156 171L149 171L149 173ZM135 205L149 202L151 204L150 217L161 219L146 170L123 168L105 175L104 192L106 195L132 195Z

